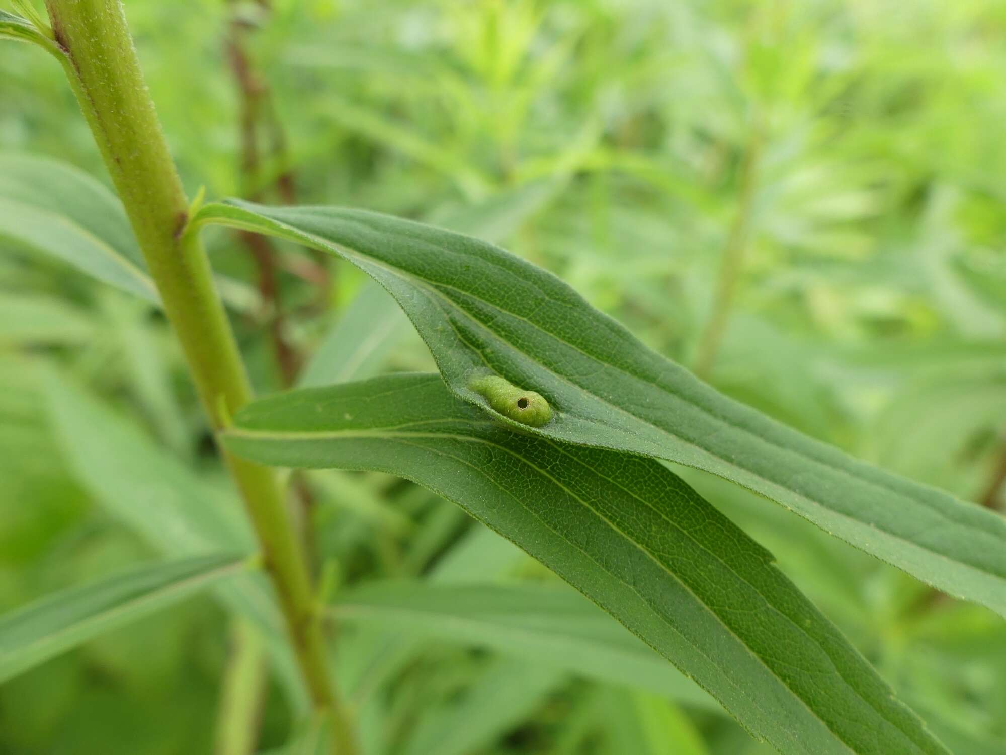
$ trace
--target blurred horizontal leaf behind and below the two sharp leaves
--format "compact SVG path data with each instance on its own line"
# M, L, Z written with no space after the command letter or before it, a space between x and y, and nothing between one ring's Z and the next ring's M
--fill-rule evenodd
M340 623L489 647L722 712L635 635L562 585L378 582L340 593L332 611Z

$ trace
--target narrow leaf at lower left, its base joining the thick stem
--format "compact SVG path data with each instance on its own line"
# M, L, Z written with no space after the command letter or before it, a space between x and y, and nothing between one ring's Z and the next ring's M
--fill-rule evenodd
M246 568L246 557L232 555L153 564L8 613L0 617L0 682Z

